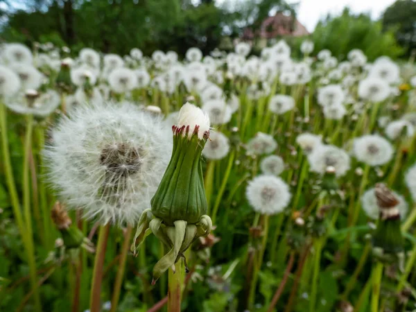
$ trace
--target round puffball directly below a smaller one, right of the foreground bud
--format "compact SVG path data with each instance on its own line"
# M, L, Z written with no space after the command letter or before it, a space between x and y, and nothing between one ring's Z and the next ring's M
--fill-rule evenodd
M254 211L260 214L278 214L291 202L291 191L280 177L259 175L248 183L245 196Z

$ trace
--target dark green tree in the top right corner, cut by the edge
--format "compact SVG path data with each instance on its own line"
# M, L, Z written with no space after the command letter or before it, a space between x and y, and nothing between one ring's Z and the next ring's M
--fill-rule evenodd
M416 49L416 1L399 0L383 14L383 28L395 32L397 42L404 47L406 55Z

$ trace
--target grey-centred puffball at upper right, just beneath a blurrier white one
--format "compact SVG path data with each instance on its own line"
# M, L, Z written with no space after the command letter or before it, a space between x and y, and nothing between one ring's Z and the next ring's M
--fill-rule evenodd
M381 102L388 98L390 87L388 83L377 77L368 77L358 83L358 96L370 102Z

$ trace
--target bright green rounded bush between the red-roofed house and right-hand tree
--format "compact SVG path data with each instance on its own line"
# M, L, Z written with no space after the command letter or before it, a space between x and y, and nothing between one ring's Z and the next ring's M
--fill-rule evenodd
M392 31L383 32L381 22L372 21L369 15L354 15L347 8L339 17L320 21L313 42L315 51L329 49L338 58L345 58L352 49L363 50L370 61L380 55L396 58L402 53Z

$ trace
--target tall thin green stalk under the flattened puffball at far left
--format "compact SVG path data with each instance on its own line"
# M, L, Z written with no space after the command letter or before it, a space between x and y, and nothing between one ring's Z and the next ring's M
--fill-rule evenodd
M37 289L35 247L33 244L32 214L31 214L31 183L29 180L29 155L32 149L33 115L29 114L26 118L26 135L24 140L24 160L23 160L23 207L24 219L26 224L26 243L28 251L29 274L35 301L36 311L42 311L40 304L40 294Z

